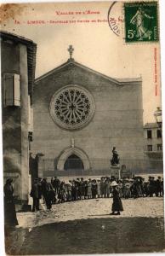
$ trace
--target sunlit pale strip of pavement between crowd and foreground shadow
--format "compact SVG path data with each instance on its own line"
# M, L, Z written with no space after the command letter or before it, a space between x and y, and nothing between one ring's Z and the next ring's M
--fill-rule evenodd
M124 211L120 216L111 216L111 198L71 201L53 205L52 212L46 212L43 205L41 212L18 213L21 227L34 226L87 218L127 218L127 217L163 217L163 199L161 197L122 200Z

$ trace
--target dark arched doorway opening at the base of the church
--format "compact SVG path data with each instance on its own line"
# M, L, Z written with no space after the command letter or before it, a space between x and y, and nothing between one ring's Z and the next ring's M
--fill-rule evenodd
M76 154L71 154L67 160L65 160L64 170L84 170L83 161Z

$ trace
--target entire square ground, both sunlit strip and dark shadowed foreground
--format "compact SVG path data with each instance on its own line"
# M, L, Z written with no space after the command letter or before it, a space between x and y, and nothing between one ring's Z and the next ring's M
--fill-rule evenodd
M71 201L54 205L52 212L46 212L43 205L40 212L17 213L18 230L29 232L21 238L20 247L18 241L13 241L16 252L20 250L24 255L162 252L162 198L122 200L124 211L120 216L109 215L111 204L111 198Z

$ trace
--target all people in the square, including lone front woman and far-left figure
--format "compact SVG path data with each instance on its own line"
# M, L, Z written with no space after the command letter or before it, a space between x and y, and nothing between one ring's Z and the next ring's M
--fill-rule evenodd
M4 185L4 212L5 226L18 225L14 205L13 179L8 178ZM43 199L47 210L52 204L65 201L88 200L95 198L113 198L111 214L120 214L123 211L122 199L163 196L163 178L143 177L115 179L115 177L100 177L98 179L84 179L83 177L71 179L68 182L60 181L58 177L48 179L35 178L31 186L33 199L32 211L39 211L40 200ZM117 212L117 213L116 213Z

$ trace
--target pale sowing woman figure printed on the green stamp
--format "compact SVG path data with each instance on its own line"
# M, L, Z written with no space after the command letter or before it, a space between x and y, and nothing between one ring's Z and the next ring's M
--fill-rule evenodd
M153 19L152 16L146 15L145 10L139 7L134 17L130 20L130 23L136 25L137 34L136 37L139 38L139 40L143 40L143 38L151 39L151 31L145 28L144 26L144 20L147 19Z

